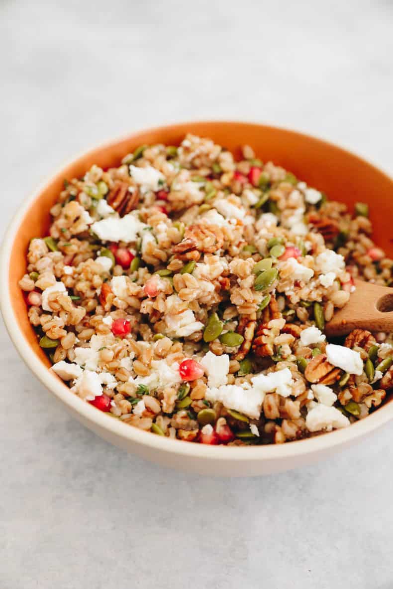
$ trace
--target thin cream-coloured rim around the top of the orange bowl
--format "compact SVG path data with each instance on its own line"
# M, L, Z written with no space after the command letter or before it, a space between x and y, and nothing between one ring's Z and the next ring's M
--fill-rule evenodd
M287 460L290 458L297 458L304 455L313 455L321 451L333 451L344 444L356 441L356 439L365 436L379 426L385 425L388 421L393 419L393 403L388 402L382 405L377 411L368 415L365 419L352 423L351 426L344 429L336 429L335 431L328 432L328 434L322 434L314 436L312 438L306 438L288 442L286 444L269 444L261 446L248 446L247 449L242 446L208 446L205 444L192 444L190 442L183 442L177 439L163 438L162 436L152 435L151 432L146 432L141 429L131 427L126 423L121 422L119 419L110 419L101 411L85 403L77 395L70 394L70 389L64 382L55 375L50 369L44 366L41 360L35 355L35 352L30 348L27 339L19 329L18 321L16 320L14 309L11 303L11 296L9 292L9 264L11 261L11 251L14 244L15 234L18 231L21 221L24 219L27 210L31 204L40 196L44 188L57 178L68 166L74 164L80 160L81 157L94 153L97 150L104 150L115 144L121 143L125 140L130 140L134 135L140 133L151 133L160 132L164 133L167 130L175 126L187 126L187 125L250 125L250 127L260 127L261 129L271 129L286 131L288 133L300 135L305 140L317 140L321 143L327 144L334 147L336 150L340 150L343 154L351 155L355 157L359 163L372 166L379 174L383 174L390 181L393 178L381 168L375 166L363 157L355 154L352 151L342 148L339 145L326 141L315 135L309 135L300 131L288 129L286 127L279 127L278 125L266 125L262 123L256 123L253 121L239 121L239 120L194 120L194 121L177 121L176 123L170 123L166 125L155 125L151 128L137 128L130 133L124 134L121 137L117 137L111 140L104 141L104 143L95 144L93 147L87 150L81 151L70 160L63 163L57 170L54 171L49 177L45 178L38 187L26 198L21 206L12 217L11 222L8 225L8 229L4 234L2 241L1 252L0 252L0 308L6 329L11 337L12 342L15 345L16 350L21 356L22 360L27 364L28 368L34 373L35 376L41 381L41 383L53 393L60 401L65 403L68 409L78 413L85 419L93 428L94 425L104 429L109 434L122 438L126 441L134 442L140 446L148 446L151 449L155 449L158 454L171 454L179 455L182 457L199 458L204 460L215 460L220 461L241 461L255 462L260 461L279 461Z

